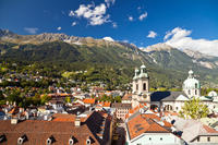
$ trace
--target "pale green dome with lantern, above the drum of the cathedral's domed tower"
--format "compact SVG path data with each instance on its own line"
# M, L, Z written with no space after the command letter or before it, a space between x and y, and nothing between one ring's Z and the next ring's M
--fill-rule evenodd
M189 77L184 81L183 83L183 88L186 89L195 89L195 88L199 88L199 81L194 78L193 76L193 71L189 71Z

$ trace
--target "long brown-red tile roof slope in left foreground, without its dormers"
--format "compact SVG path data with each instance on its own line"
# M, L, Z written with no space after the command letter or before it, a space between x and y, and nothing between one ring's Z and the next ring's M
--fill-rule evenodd
M0 121L0 134L7 137L1 145L15 145L22 135L27 136L24 145L44 145L50 136L56 140L52 145L66 145L71 136L77 140L75 145L84 145L87 136L94 141L92 145L99 145L86 124L75 128L73 122L27 120L11 124L10 120L7 120Z

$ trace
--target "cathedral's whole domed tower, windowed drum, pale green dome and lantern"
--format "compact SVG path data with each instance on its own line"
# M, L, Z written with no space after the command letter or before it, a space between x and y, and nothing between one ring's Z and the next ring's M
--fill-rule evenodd
M192 70L189 71L189 76L183 83L183 92L189 98L201 96L199 81L194 78L194 72Z

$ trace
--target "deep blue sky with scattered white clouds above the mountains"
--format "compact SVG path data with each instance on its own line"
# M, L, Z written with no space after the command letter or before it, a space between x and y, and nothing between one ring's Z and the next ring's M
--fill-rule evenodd
M0 0L0 28L21 35L166 43L218 56L218 0Z

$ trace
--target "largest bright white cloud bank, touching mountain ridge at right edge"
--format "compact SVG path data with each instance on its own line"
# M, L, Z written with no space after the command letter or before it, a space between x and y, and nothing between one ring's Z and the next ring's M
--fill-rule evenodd
M181 50L191 49L209 56L218 57L218 39L193 39L192 37L189 37L191 34L192 31L175 27L171 32L167 32L164 39L166 40L167 45Z

